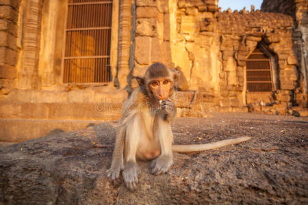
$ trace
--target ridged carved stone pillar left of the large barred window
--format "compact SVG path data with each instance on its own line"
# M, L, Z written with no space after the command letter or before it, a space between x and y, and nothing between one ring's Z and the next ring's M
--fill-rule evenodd
M21 55L18 61L18 88L39 89L40 77L38 77L38 56L40 49L40 21L42 1L25 0L21 5L20 12L23 16L19 17L21 39ZM23 23L21 23L23 22Z

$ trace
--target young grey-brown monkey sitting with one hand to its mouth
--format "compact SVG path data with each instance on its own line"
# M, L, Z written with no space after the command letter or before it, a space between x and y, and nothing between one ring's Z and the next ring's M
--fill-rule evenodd
M112 181L118 180L122 171L130 191L134 191L138 184L137 159L151 160L151 174L158 175L166 173L172 165L172 152L197 152L250 139L239 137L215 143L172 146L170 122L177 115L172 98L179 72L155 63L149 66L144 77L136 77L136 80L139 87L125 102L116 131L112 163L106 171Z

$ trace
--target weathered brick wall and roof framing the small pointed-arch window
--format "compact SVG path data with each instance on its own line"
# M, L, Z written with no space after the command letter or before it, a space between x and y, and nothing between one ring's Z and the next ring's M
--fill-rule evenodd
M229 95L244 90L244 68L246 58L258 43L277 57L276 75L279 85L274 87L284 97L283 103L291 100L291 91L296 86L296 60L292 50L292 18L283 14L265 14L263 12L223 12L218 13L217 29L220 33L223 72L220 81L222 90ZM228 85L228 61L236 61L236 79L234 85ZM225 77L227 76L227 77ZM226 97L228 97L226 95ZM281 103L281 102L280 102Z

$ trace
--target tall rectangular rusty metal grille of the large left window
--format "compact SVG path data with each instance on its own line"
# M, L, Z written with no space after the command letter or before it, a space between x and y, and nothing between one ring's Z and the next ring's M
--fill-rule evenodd
M64 83L110 82L112 1L68 0Z

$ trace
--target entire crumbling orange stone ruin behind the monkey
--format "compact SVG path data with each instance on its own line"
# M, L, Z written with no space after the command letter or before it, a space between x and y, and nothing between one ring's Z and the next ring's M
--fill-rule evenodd
M181 72L179 116L307 115L307 4L1 0L0 141L119 118L133 76L156 61Z

